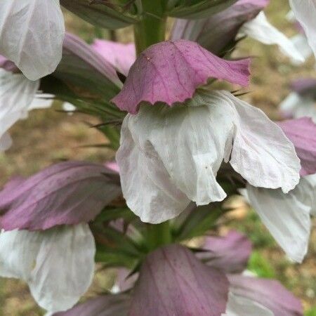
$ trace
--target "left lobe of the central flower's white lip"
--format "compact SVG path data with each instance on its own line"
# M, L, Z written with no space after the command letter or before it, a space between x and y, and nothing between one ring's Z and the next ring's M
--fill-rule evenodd
M177 216L190 200L171 183L152 145L147 145L145 154L133 140L128 125L134 120L129 114L124 119L116 157L122 190L130 209L143 222L161 223Z

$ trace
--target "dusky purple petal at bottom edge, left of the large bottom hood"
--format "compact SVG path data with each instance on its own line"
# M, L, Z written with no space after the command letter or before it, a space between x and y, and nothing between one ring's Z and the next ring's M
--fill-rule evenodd
M129 296L124 294L99 296L53 316L127 316L129 301Z

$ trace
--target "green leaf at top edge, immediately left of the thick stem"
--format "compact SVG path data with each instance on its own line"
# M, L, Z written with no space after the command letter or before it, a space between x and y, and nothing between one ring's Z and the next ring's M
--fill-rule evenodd
M120 29L138 22L137 18L126 12L126 8L109 4L105 0L60 0L67 10L83 20L107 29Z

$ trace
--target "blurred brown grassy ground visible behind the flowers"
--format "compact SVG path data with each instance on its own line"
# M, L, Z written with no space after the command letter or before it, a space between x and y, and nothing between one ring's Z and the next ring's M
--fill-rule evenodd
M288 0L270 0L266 11L272 25L291 37L297 31L286 19L288 12ZM109 38L107 31L95 29L70 13L65 12L65 17L67 30L78 34L88 43L95 37ZM129 28L119 30L116 36L122 42L133 41L133 33ZM242 98L261 107L272 119L278 117L278 105L288 95L291 80L299 77L316 78L313 58L304 65L294 66L277 47L264 46L251 39L239 43L235 55L254 57L251 85L247 88L249 93ZM11 176L29 176L62 159L105 162L114 158L111 150L90 146L104 143L103 135L88 127L88 123L97 123L95 119L84 114L68 115L59 111L60 106L55 103L48 110L34 110L29 113L28 119L18 121L11 129L13 146L6 153L0 153L0 187ZM259 277L278 279L301 298L305 315L316 316L316 221L313 223L308 256L303 264L296 265L287 260L256 213L242 201L234 203L236 211L225 220L220 232L225 234L235 228L246 233L255 249L249 261L249 270L256 272ZM113 275L114 272L108 270L97 272L88 295L110 289ZM0 278L0 316L38 315L44 315L44 312L37 308L26 284Z

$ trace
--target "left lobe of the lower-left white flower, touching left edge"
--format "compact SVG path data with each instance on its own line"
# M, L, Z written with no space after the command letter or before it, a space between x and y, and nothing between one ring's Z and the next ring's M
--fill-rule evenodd
M27 230L0 233L0 276L27 281L35 266L41 233Z

